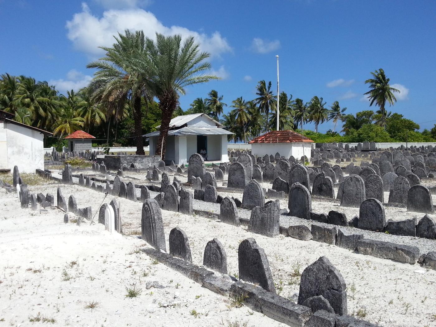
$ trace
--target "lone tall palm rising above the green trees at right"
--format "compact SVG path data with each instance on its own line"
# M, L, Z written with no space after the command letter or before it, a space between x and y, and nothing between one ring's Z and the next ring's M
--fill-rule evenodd
M371 100L369 106L372 106L375 102L375 104L380 108L381 126L384 126L386 123L385 104L388 102L389 106L392 106L394 102L397 101L394 93L399 93L400 91L389 85L389 78L386 77L383 69L376 69L375 72L371 72L371 75L373 78L369 78L365 81L365 84L369 84L370 90L364 93L364 95L368 95L368 99Z

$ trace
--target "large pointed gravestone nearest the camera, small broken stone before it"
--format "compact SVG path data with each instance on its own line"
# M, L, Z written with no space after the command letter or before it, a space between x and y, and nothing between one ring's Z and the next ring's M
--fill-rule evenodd
M298 304L320 295L330 303L336 314L347 314L347 288L344 278L325 256L303 270Z

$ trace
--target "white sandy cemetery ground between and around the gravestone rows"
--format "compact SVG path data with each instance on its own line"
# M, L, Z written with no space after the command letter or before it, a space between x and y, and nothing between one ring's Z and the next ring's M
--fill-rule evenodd
M83 174L95 173L83 171ZM169 173L171 180L174 175ZM186 177L180 174L176 176L186 182ZM124 172L123 181L145 184L145 174ZM221 184L217 183L218 186ZM93 216L96 214L95 222L98 221L100 205L115 198L112 195L105 198L105 194L77 184L29 185L29 192L56 194L59 185L65 198L74 194L79 208L92 206ZM264 183L262 186L270 188L271 184ZM138 193L139 189L136 191ZM63 212L57 209L48 210L46 215L20 209L14 194L6 194L3 190L0 192L4 192L0 197L0 246L3 254L0 259L3 270L0 275L3 282L0 296L7 300L2 301L4 319L13 325L29 324L30 319L38 317L38 312L41 313L41 319L45 317L56 320L60 325L68 322L75 326L111 326L120 321L123 325L134 326L138 319L141 323L153 322L156 326L174 324L174 320L180 326L283 325L247 307L231 307L228 298L201 288L162 264L153 264L156 262L137 251L140 247L148 246L139 238L140 202L117 197L121 204L123 235L114 237L104 232L101 224L89 225L85 221L76 226L73 221L64 225ZM157 194L150 191L151 198ZM218 194L242 199L242 194L238 193ZM287 200L281 200L280 206L287 208ZM194 200L193 207L194 210L219 214L219 204ZM333 202L313 201L312 208L316 212L344 212L348 219L358 214L358 208L339 207ZM405 208L385 209L386 219L423 216L407 212ZM239 218L250 218L250 212L238 209ZM167 249L170 230L180 227L189 239L194 264L202 264L206 243L218 238L227 252L228 273L237 277L238 245L246 238L255 238L266 252L277 293L296 301L301 272L320 256L326 255L345 279L349 314L382 326L436 326L435 270L422 268L418 264L409 265L361 255L313 240L301 241L284 235L269 238L247 232L246 226L224 224L195 213L190 216L162 210L162 217ZM283 226L308 225L309 222L280 215L280 225ZM365 237L369 234L373 239L412 243L422 253L435 248L434 240L360 229L358 233ZM11 243L15 245L11 247ZM71 279L63 280L67 276ZM153 281L165 288L146 290L146 283ZM137 298L127 298L126 288L133 288L134 285L142 293ZM90 308L92 303L98 305Z

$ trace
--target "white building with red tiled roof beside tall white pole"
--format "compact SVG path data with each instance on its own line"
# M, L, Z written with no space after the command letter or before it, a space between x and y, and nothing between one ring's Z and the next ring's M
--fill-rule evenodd
M266 154L274 156L278 152L280 156L286 158L293 156L295 159L300 159L303 156L310 159L312 143L313 141L306 136L292 130L275 130L249 142L251 153L258 157L263 157Z

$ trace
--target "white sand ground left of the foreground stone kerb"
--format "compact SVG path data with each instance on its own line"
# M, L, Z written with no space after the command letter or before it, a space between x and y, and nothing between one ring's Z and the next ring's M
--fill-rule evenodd
M29 188L55 194L54 187ZM84 188L63 189L67 198L75 194L79 207L95 210L102 198ZM127 218L127 205L122 212ZM229 309L224 296L154 264L137 251L142 246L136 237L109 235L103 225L64 224L58 209L45 215L21 209L0 189L0 326L284 326L246 307ZM164 288L146 290L153 281ZM142 293L127 298L134 285ZM92 302L98 305L87 308ZM41 320L31 322L38 313Z

